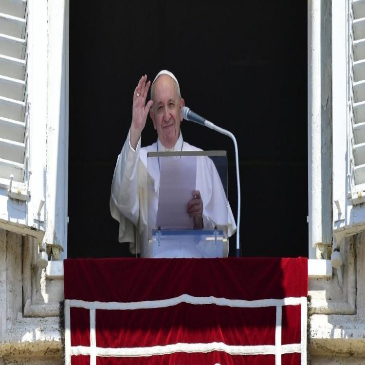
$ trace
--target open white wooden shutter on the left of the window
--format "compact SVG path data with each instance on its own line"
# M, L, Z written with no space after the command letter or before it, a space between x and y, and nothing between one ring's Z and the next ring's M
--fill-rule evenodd
M0 228L39 242L44 237L46 195L44 1L0 0ZM45 9L45 16L36 5Z

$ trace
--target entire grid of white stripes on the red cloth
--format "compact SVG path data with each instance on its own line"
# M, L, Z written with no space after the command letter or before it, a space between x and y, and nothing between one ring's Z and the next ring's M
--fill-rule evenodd
M238 308L259 308L276 307L275 325L275 345L258 346L232 346L221 342L207 344L172 344L165 346L152 347L96 347L96 323L95 310L137 310L150 308L166 308L180 303L193 305L215 304L219 306L238 307ZM300 344L281 344L282 332L282 307L288 305L301 305L301 327ZM71 325L70 307L85 308L90 310L90 347L71 346ZM260 300L240 300L217 298L214 296L197 297L182 294L175 298L163 300L146 300L140 302L87 302L83 300L65 300L65 357L66 365L71 365L72 355L90 355L90 364L96 365L96 357L143 357L153 355L166 355L174 352L197 352L205 353L212 351L224 351L230 355L275 355L275 365L281 365L281 354L294 352L301 353L301 365L307 364L307 298L288 297L284 299L260 299Z

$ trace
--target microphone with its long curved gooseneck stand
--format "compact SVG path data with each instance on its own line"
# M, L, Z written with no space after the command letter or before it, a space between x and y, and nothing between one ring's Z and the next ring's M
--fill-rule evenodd
M239 181L239 167L238 167L238 147L236 137L227 129L220 128L209 122L205 118L201 117L194 111L190 110L188 107L183 107L182 115L185 120L189 120L191 122L195 122L201 124L202 126L211 128L219 133L222 133L228 137L230 137L235 145L235 157L236 157L236 177L237 177L237 235L236 235L236 256L239 257L239 226L240 226L240 219L241 219L241 186Z

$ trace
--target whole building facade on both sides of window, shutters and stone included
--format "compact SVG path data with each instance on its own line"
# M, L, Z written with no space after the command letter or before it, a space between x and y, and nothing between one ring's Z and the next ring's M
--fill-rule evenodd
M0 0L0 365L64 362L69 5ZM309 357L363 364L365 0L308 1L308 136Z

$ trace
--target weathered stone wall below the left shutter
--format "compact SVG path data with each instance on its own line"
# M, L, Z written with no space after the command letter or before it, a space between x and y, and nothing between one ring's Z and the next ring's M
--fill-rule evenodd
M33 238L0 229L0 365L62 364L63 279L37 259Z

